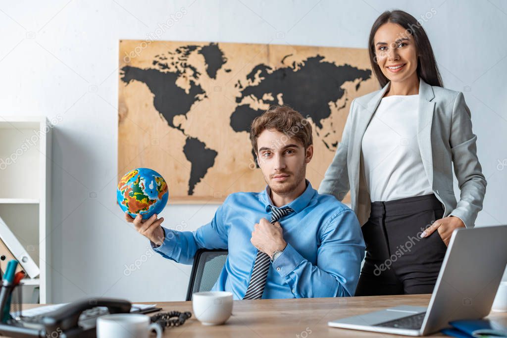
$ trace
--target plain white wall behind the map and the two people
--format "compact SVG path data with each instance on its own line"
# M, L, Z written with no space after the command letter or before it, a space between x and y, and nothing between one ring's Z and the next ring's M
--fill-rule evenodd
M115 203L118 41L146 39L181 8L187 14L161 40L355 48L366 47L371 24L385 9L417 18L434 9L424 27L445 86L470 88L464 94L488 180L477 224L507 223L507 166L498 165L507 162L506 2L9 2L0 5L0 115L63 118L54 130L52 159L53 302L101 295L132 301L185 297L190 267L148 257L148 241L125 223ZM194 230L215 209L168 206L161 215L166 227L185 222ZM124 274L125 265L144 258L139 270Z

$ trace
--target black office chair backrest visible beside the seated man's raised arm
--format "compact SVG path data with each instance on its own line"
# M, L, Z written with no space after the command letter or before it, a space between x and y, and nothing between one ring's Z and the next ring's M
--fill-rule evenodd
M209 291L213 288L224 268L228 252L225 249L197 250L187 289L187 301L192 301L194 292Z

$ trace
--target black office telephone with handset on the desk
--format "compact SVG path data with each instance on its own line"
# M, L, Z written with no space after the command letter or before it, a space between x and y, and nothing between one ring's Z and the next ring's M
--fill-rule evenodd
M22 317L0 324L0 334L14 338L96 338L96 320L110 313L129 313L132 304L124 299L88 298L66 304L35 317ZM135 311L149 313L160 308Z

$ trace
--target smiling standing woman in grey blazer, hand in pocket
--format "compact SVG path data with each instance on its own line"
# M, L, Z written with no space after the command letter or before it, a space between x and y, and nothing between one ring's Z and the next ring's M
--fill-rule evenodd
M382 89L352 101L319 193L341 200L350 190L367 250L355 295L430 293L452 232L473 227L482 209L477 136L412 15L382 13L368 51Z

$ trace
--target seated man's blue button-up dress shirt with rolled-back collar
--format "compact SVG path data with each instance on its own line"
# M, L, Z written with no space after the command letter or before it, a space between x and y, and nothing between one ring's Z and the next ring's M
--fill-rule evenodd
M283 253L269 268L262 298L335 297L354 295L365 242L354 212L334 196L320 195L307 180L303 194L286 206L294 209L280 218ZM192 264L200 248L228 249L229 255L213 290L242 299L257 249L253 226L271 219L269 186L260 193L234 193L216 210L213 219L196 231L164 228L165 239L155 251L183 264Z

